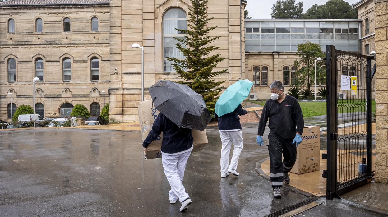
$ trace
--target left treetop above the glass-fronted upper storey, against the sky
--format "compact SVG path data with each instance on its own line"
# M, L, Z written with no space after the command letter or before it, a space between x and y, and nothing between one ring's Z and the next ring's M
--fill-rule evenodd
M275 19L282 18L301 18L303 13L303 2L296 0L277 0L272 6L271 17Z

